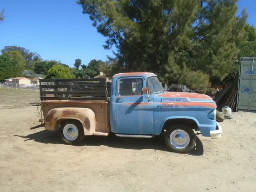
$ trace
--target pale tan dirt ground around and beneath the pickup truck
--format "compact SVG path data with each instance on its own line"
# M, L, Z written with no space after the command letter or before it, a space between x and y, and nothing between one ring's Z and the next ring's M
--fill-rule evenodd
M189 154L169 152L161 138L89 136L80 146L68 146L44 128L30 131L40 118L34 106L39 92L16 90L8 99L4 91L0 89L1 192L256 189L254 113L233 113L233 119L221 123L220 139L199 135L197 149Z

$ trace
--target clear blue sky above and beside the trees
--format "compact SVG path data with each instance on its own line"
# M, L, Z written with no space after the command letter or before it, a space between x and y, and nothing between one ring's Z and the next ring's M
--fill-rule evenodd
M256 26L256 0L239 0L238 13L246 7L248 22ZM0 24L0 49L22 46L37 52L44 60L57 60L73 66L92 59L106 60L111 50L102 45L106 38L92 26L76 0L0 0L5 20Z

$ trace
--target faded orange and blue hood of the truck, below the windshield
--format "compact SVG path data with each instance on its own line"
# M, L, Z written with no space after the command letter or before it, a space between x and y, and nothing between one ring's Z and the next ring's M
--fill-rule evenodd
M162 102L214 102L208 95L187 92L164 92L158 95L162 97Z

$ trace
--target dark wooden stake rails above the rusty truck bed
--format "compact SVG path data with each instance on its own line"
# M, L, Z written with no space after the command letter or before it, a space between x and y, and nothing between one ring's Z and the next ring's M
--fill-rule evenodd
M107 101L111 83L106 78L40 79L40 100Z

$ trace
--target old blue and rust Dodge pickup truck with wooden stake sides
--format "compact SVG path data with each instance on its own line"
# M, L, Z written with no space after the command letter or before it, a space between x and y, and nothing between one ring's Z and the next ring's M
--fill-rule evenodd
M148 72L116 74L111 83L104 78L42 79L40 108L36 127L58 131L65 144L110 132L141 138L164 134L169 150L187 153L195 146L196 132L211 138L222 134L209 96L165 92L156 74Z

